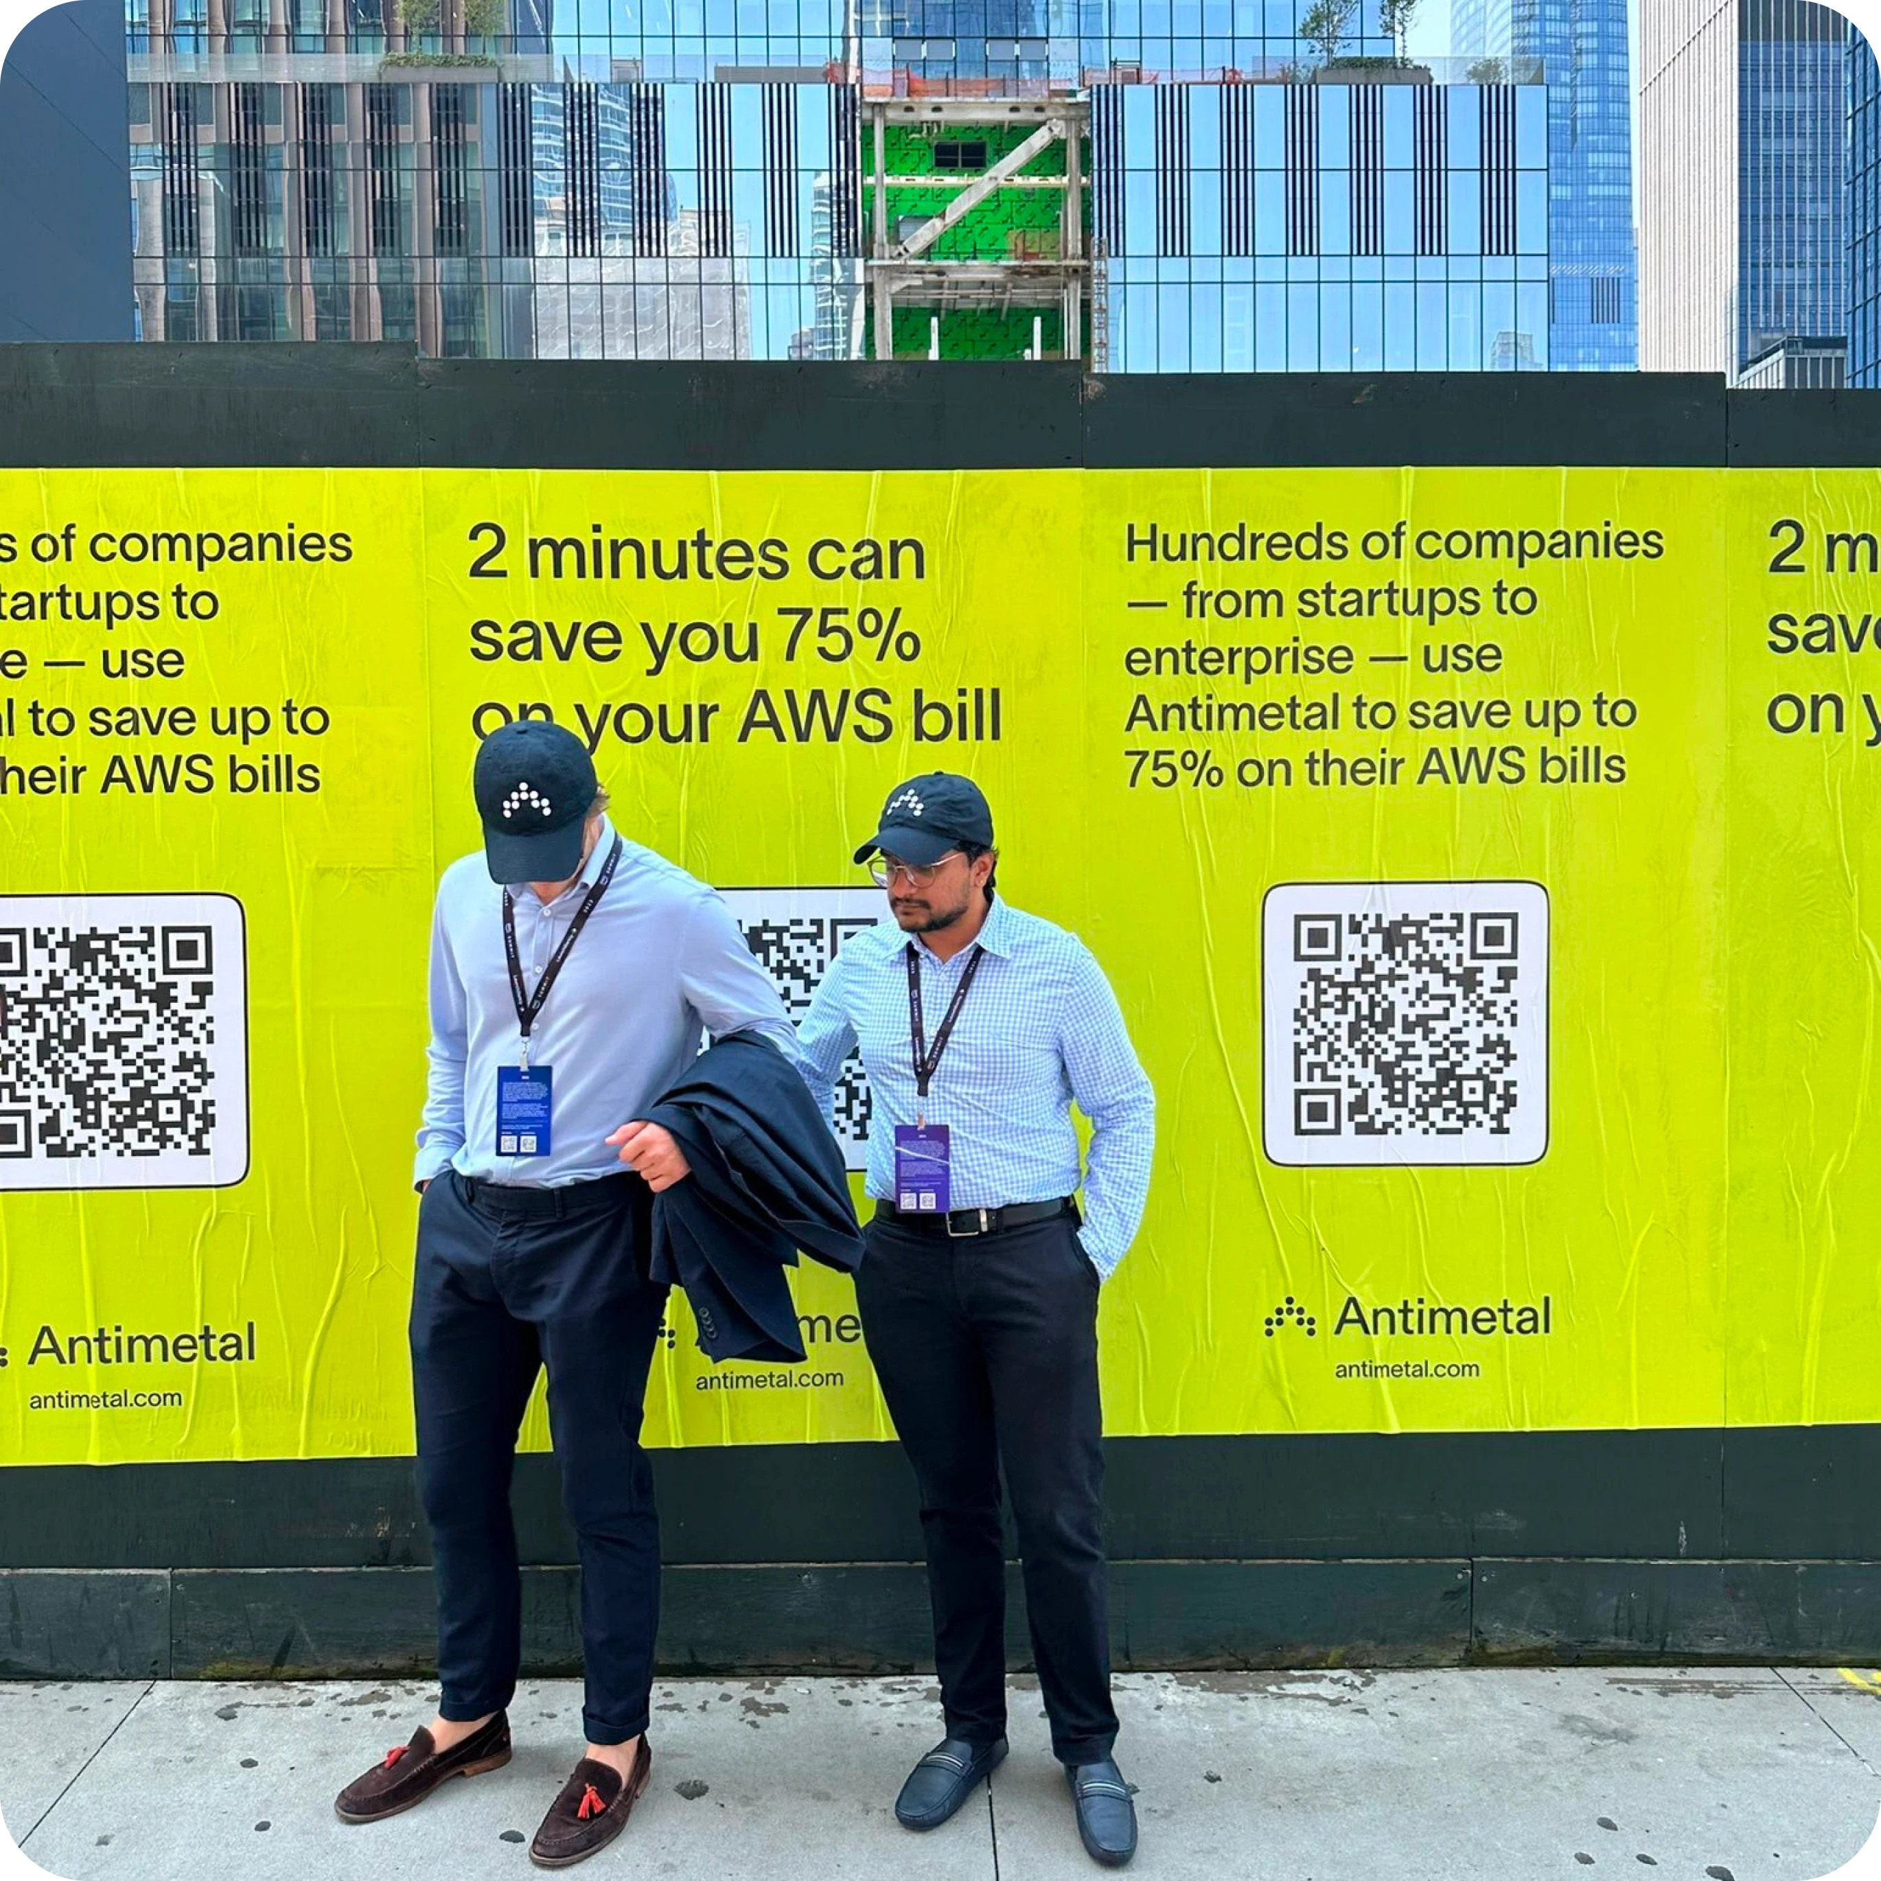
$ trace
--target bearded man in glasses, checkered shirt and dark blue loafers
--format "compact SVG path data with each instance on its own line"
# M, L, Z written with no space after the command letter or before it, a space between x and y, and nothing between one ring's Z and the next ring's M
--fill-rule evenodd
M1121 1866L1136 1815L1112 1759L1097 1296L1142 1221L1155 1097L1102 969L995 899L997 860L971 781L901 784L856 852L893 925L835 956L798 1038L826 1115L858 1046L875 1099L856 1300L920 1482L946 1712L895 1815L939 1826L1006 1755L1004 1463L1051 1749L1085 1849Z

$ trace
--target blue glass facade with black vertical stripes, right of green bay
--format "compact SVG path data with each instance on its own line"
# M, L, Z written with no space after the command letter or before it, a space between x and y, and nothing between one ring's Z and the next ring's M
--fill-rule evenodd
M1542 87L1115 85L1091 122L1114 371L1548 365Z

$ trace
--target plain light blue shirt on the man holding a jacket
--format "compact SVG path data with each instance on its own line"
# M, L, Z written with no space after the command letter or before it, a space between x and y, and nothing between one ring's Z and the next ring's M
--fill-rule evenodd
M576 884L544 905L514 884L523 984L536 989L587 890L613 824ZM529 1063L553 1070L551 1153L497 1153L497 1067L519 1063L521 1027L502 952L502 888L483 856L453 861L431 920L431 1063L414 1181L457 1168L480 1181L553 1189L621 1174L606 1138L641 1117L711 1033L756 1031L798 1057L790 1018L732 910L703 882L638 843L621 861L549 989Z

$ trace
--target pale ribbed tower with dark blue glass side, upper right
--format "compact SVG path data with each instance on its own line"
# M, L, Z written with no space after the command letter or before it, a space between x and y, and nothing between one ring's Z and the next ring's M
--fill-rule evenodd
M1640 365L1840 384L1845 15L1823 0L1653 0L1640 73Z

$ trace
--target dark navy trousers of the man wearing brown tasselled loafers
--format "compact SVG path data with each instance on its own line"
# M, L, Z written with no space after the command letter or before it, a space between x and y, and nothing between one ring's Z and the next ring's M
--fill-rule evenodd
M515 1693L523 1586L510 1520L515 1435L536 1373L581 1554L591 1744L647 1729L660 1524L640 1448L666 1288L647 1281L651 1191L632 1174L510 1189L446 1172L418 1209L412 1394L438 1589L440 1714Z

